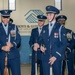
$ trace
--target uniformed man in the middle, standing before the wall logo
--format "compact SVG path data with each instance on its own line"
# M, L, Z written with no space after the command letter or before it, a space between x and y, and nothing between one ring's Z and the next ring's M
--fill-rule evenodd
M38 15L38 27L32 29L31 36L30 36L30 47L32 48L32 68L31 68L31 75L35 75L35 53L37 52L37 64L40 64L40 75L42 73L42 64L41 64L41 51L40 51L40 43L41 43L41 32L44 26L45 20L47 19L44 15Z

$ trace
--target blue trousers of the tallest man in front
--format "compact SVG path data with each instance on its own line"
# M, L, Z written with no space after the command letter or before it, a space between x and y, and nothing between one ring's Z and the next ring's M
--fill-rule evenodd
M43 75L50 75L50 64L47 61L42 62ZM56 60L52 65L53 75L62 75L62 61Z

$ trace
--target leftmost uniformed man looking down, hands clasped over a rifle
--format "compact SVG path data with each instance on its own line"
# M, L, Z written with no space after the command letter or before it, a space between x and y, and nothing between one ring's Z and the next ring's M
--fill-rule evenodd
M4 75L4 62L7 55L7 67L11 69L12 75L21 75L20 73L20 54L18 46L21 43L21 37L15 24L9 23L11 10L1 10L0 23L0 70Z

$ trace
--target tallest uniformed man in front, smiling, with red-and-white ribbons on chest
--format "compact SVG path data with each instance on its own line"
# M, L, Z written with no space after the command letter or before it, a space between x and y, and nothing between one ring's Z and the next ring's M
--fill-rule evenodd
M43 75L50 75L52 71L53 75L62 75L61 65L67 45L65 28L56 22L56 15L59 14L59 10L56 7L46 6L46 14L49 23L42 30L42 39L46 48L43 46L40 48L43 52ZM50 66L52 67L52 71Z

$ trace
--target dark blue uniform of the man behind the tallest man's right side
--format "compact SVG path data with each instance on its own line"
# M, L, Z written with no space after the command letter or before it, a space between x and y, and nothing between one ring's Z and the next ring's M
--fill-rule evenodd
M68 75L74 75L74 38L73 38L73 32L70 29L66 29L66 36L68 40L67 48L66 48L66 54L65 54L65 60L63 65L67 67L68 69ZM62 71L64 73L64 71ZM63 74L64 75L64 74Z

